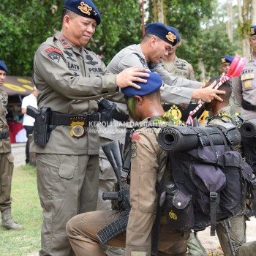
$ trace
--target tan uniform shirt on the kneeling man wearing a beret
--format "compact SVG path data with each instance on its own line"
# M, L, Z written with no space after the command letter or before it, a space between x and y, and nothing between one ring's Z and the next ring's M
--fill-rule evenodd
M150 118L146 118L143 122L147 123L149 120ZM157 200L155 186L162 178L167 156L167 152L157 143L159 130L160 128L143 127L132 135L132 208L127 225L126 255L148 255L146 252L151 249L151 231Z

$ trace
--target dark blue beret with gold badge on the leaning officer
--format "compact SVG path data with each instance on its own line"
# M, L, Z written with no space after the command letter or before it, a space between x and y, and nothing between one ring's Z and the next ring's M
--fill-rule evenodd
M146 33L154 34L165 42L169 42L170 45L177 45L178 41L176 31L171 29L170 26L165 26L164 23L155 22L148 24L146 27Z

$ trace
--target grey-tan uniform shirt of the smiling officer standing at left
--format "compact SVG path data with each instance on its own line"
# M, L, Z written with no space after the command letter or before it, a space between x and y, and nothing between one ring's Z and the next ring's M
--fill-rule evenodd
M104 75L104 76L102 76ZM34 56L34 83L38 107L68 114L97 113L97 99L116 94L116 75L99 56L77 48L56 31ZM85 136L74 138L71 126L57 126L46 146L32 143L31 151L47 154L99 154L97 127L85 127Z

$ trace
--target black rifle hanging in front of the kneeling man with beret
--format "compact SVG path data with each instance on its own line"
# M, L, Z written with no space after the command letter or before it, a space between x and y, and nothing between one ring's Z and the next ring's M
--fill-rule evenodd
M108 158L110 165L113 167L119 187L118 192L104 192L102 198L103 200L118 200L118 209L121 211L121 217L119 219L107 227L104 227L97 233L97 236L102 244L107 244L108 241L121 233L124 233L124 231L127 229L129 211L131 209L129 204L129 184L127 184L127 176L129 174L132 151L128 152L127 158L123 163L121 147L118 140L105 144L102 146L102 150Z

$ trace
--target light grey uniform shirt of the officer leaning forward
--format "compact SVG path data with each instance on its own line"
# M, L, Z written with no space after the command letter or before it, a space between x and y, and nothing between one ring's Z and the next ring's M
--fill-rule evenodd
M124 48L108 64L108 69L113 74L118 74L127 67L138 66L148 67L146 57L140 45L129 45ZM187 80L170 74L161 64L156 64L155 67L150 67L151 71L161 75L165 83L165 90L161 91L162 102L169 104L189 104L192 97L193 89L198 89L201 83Z

